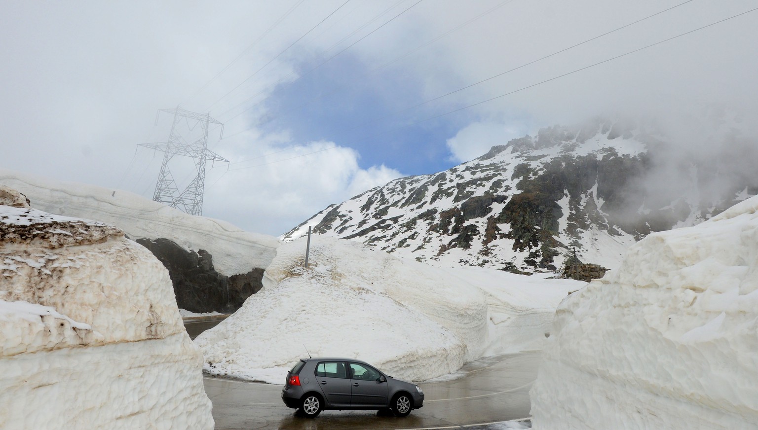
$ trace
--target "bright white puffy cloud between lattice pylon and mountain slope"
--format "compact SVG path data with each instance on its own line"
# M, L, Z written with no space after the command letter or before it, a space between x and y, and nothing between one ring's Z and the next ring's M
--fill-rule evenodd
M270 144L261 151L271 155L208 175L204 215L280 235L328 204L402 176L384 166L362 169L355 150L334 142Z

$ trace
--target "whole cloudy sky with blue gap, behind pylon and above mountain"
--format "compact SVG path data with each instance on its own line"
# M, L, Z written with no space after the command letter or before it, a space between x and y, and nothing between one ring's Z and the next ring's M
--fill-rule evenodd
M224 139L211 126L208 148L230 163L208 164L204 215L280 235L328 204L543 126L713 104L754 123L758 11L506 95L753 8L0 0L0 167L152 198L162 154L137 144L168 139L171 114L155 125L156 111L210 113ZM187 163L172 172L180 185L193 176Z

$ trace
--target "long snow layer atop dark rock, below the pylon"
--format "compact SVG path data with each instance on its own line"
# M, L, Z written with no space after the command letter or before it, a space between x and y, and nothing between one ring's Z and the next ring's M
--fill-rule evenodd
M265 268L279 241L245 232L221 220L196 217L139 195L75 182L61 182L0 169L0 184L27 195L49 213L98 220L117 226L130 238L167 238L185 249L204 249L224 276Z

